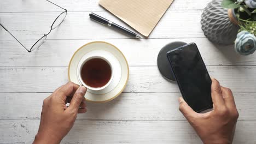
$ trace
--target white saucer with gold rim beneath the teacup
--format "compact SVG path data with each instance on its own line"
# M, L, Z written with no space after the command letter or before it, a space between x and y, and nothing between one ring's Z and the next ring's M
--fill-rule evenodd
M115 74L113 80L108 87L101 91L92 91L88 89L85 94L85 99L95 103L105 103L110 101L123 92L128 78L129 78L129 65L123 53L114 45L104 41L94 41L83 45L75 51L68 65L68 79L78 85L81 85L77 76L78 63L84 57L90 55L104 55L111 59L111 63L115 65Z

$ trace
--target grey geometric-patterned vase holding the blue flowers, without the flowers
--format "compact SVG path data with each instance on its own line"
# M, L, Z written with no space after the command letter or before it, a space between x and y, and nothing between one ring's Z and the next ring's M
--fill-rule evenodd
M208 3L202 13L202 30L205 36L216 44L234 44L238 25L234 10L222 7L223 0L213 0Z

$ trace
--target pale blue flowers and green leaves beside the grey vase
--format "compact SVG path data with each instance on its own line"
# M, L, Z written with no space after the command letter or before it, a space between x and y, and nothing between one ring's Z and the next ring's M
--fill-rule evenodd
M241 55L256 50L256 0L223 0L222 7L234 9L240 26L235 40L235 51Z

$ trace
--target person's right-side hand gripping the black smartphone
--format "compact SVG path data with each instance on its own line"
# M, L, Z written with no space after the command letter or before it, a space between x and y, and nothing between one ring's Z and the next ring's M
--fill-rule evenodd
M195 129L203 143L232 143L238 112L233 94L229 88L219 85L212 79L213 110L207 113L196 113L179 98L179 110Z

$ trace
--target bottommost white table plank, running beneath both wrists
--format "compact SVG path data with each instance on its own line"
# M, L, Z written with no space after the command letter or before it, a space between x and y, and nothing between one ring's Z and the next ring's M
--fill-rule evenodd
M238 121L233 143L255 143L255 121ZM32 143L39 121L0 121L0 143ZM187 121L76 121L62 143L202 143Z

